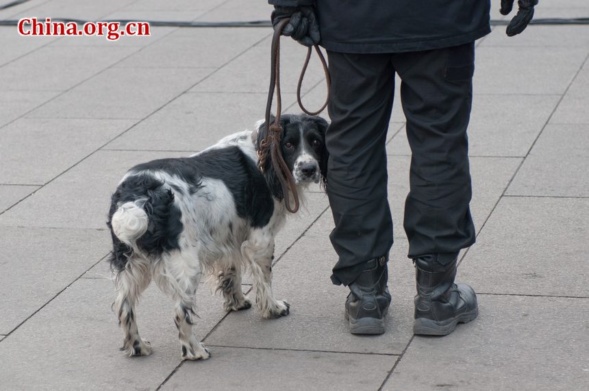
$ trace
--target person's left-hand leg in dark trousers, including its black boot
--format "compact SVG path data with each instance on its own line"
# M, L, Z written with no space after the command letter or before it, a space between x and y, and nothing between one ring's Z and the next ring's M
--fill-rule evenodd
M385 144L394 69L390 55L327 54L327 194L336 225L329 237L339 257L331 281L351 290L346 316L352 333L384 333L392 246Z

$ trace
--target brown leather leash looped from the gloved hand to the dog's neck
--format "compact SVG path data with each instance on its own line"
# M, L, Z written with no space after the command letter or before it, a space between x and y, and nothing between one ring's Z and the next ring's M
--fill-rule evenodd
M299 210L299 194L297 194L297 186L294 184L294 179L292 178L292 173L288 170L288 166L284 161L284 157L282 157L281 147L280 147L280 139L282 134L282 127L280 126L280 115L282 110L282 98L280 94L280 34L284 26L290 21L290 19L286 18L280 21L278 25L275 27L274 35L272 37L272 45L271 45L271 73L270 73L270 88L268 90L268 101L266 101L266 125L268 126L268 135L264 140L260 142L260 149L258 151L258 167L260 171L264 172L264 166L266 166L266 159L268 156L268 150L271 153L272 163L280 185L282 187L282 194L284 197L284 205L286 205L286 210L290 213L296 213ZM331 80L329 79L329 69L327 68L327 62L325 62L325 57L323 53L321 53L321 49L317 45L314 45L315 51L319 56L319 60L321 60L321 64L323 65L323 71L325 72L325 81L327 83L327 99L325 99L325 103L316 112L311 112L307 110L303 106L303 101L301 99L301 86L303 85L303 79L305 77L305 73L307 71L307 67L309 65L309 61L311 58L312 49L309 47L307 51L307 58L305 58L305 64L303 65L303 69L301 71L301 75L299 77L299 83L297 84L297 102L299 103L299 107L305 114L308 115L317 115L321 113L326 107L327 103L329 102L329 86L331 84ZM272 110L272 100L274 97L274 91L276 89L276 116L274 123L270 124L270 117L271 117L271 110ZM292 197L294 199L294 207L290 205L290 199L288 197L288 192L292 192Z

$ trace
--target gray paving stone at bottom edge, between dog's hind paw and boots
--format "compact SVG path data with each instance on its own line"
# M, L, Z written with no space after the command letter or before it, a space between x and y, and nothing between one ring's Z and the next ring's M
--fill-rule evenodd
M376 390L397 360L394 355L215 350L212 360L184 364L162 390L188 384L207 390Z

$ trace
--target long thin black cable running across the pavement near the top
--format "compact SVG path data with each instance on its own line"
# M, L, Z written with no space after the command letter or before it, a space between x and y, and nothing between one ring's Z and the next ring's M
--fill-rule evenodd
M28 0L20 0L23 3ZM5 5L7 6L7 5ZM1 9L1 8L0 8ZM82 21L79 19L72 18L51 18L52 22L60 23L76 23L78 25L84 25L84 23L112 23L118 22L122 25L127 23L143 22L149 23L152 27L272 27L272 23L268 21L238 21L238 22L179 22L179 21L145 21L137 19L117 19L110 21ZM39 23L45 23L45 19L38 19ZM502 26L510 23L509 20L496 20L491 21L493 26ZM532 20L530 25L589 25L589 18L538 18ZM0 26L17 26L18 21L0 21Z

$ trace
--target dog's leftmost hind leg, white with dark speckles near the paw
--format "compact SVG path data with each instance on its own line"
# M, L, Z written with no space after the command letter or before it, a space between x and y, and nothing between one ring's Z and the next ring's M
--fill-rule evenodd
M149 260L129 257L125 268L116 276L114 310L123 329L122 351L129 356L150 355L149 342L142 340L136 323L135 305L151 281Z

